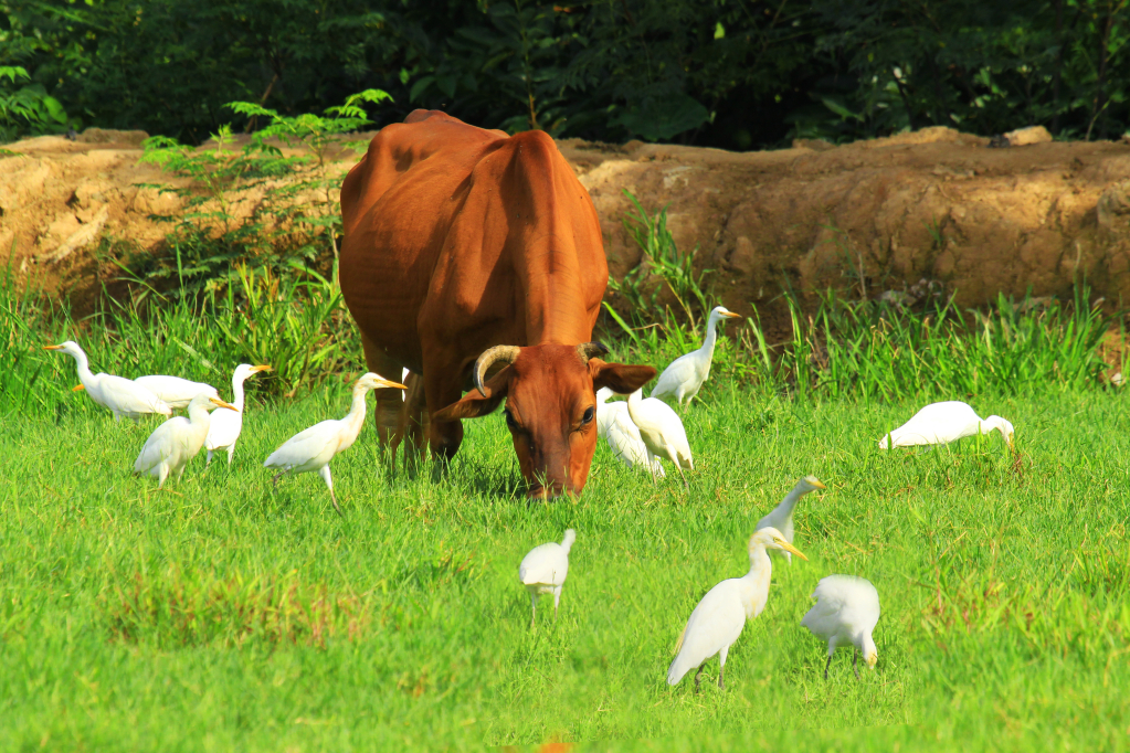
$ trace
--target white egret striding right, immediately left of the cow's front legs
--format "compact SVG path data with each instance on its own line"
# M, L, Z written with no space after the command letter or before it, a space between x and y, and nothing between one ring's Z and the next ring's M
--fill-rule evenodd
M333 479L330 476L330 461L338 453L344 453L353 446L365 424L365 395L370 389L395 387L406 389L398 382L390 382L379 374L370 371L354 384L353 404L344 419L330 419L315 423L305 431L299 431L276 449L263 462L263 467L281 469L275 474L275 484L284 473L306 473L318 471L330 490L333 509L341 515L338 498L333 494Z

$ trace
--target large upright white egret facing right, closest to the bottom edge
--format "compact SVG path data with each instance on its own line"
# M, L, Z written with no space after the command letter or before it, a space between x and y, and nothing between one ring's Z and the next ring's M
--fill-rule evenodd
M785 541L776 528L762 528L749 539L749 572L742 578L730 578L718 584L703 596L698 606L690 613L687 627L679 636L675 650L678 656L667 671L667 684L676 685L695 667L695 691L698 690L699 675L703 665L715 654L719 658L718 686L725 690L722 673L725 669L725 655L738 640L746 620L753 620L770 598L770 578L773 575L773 563L767 549L791 552L802 560L808 558Z

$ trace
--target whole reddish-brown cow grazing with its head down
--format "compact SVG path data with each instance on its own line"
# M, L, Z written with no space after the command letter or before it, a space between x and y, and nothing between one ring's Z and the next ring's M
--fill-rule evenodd
M394 449L407 427L421 446L426 402L432 452L450 458L460 419L505 397L531 496L580 493L594 391L633 392L655 369L606 364L590 342L608 265L597 210L553 139L418 110L373 138L341 186L341 291L370 368L423 378L405 403L377 391L382 443Z

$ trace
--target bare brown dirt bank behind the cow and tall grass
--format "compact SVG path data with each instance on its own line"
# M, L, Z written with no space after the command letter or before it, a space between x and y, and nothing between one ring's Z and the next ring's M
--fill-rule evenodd
M18 279L49 291L89 289L113 277L92 252L99 237L156 247L167 229L149 219L181 200L142 187L179 183L140 165L140 132L89 131L78 141L43 137L0 157L0 249ZM913 295L922 279L972 306L998 291L1070 291L1085 273L1097 295L1130 300L1130 145L1035 143L992 148L989 139L927 129L842 147L779 151L631 142L560 142L601 216L617 278L640 262L620 217L623 190L647 209L669 205L681 248L716 270L720 298L757 305L776 319L783 284L811 294ZM354 152L339 155L346 170ZM180 182L183 184L183 182ZM250 213L260 193L242 198ZM892 295L892 294L888 294Z

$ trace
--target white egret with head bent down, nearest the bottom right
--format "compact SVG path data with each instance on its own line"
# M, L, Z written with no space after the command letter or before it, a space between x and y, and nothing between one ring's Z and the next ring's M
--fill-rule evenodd
M871 632L879 621L879 593L869 580L854 576L828 576L820 578L812 592L816 605L800 621L817 638L828 641L828 662L824 665L824 678L828 678L832 655L838 645L851 645L852 668L859 678L859 654L863 653L867 666L875 668L879 654L875 650Z

